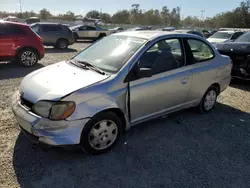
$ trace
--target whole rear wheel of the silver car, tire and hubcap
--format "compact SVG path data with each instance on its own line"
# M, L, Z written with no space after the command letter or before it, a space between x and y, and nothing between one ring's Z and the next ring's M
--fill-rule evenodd
M199 104L199 111L201 113L210 112L216 105L216 100L218 95L219 95L218 87L216 86L209 87Z

